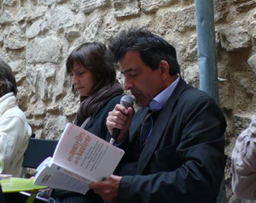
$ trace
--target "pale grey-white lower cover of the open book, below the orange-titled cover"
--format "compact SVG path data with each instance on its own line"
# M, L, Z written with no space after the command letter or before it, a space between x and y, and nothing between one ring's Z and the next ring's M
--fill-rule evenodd
M49 166L41 167L41 171L36 174L34 184L48 186L52 189L65 189L81 194L85 194L89 190L88 184L58 172Z

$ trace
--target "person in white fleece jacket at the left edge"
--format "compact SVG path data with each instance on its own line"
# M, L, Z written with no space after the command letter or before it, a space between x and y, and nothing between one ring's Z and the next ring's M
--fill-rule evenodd
M16 103L16 94L15 76L9 65L0 59L0 170L19 177L32 129Z

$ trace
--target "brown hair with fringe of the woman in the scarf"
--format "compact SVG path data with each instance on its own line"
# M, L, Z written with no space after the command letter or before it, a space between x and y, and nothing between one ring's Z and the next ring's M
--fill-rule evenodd
M71 73L75 63L82 65L84 69L90 70L92 73L94 84L90 90L90 94L116 82L116 72L113 62L106 57L106 52L106 46L100 42L85 42L73 49L67 58L67 74Z

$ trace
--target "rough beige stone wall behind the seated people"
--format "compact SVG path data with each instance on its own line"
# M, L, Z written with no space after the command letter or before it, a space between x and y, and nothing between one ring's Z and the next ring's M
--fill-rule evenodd
M220 105L228 121L226 154L256 112L256 2L215 0ZM79 99L65 74L67 55L81 42L108 42L143 26L175 48L182 76L198 87L193 0L0 0L0 55L15 72L18 101L37 138L58 138ZM230 190L229 202L241 202Z

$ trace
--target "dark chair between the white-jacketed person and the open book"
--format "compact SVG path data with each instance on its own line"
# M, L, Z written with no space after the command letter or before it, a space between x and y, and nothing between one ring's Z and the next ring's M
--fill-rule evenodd
M58 140L30 138L26 152L24 154L24 160L22 162L22 169L20 172L20 178L24 178L26 174L26 168L36 169L47 157L53 156L55 147L58 144ZM22 195L34 196L32 199L36 199L40 202L47 201L48 199L42 198L35 194L29 194L26 192L20 192Z

